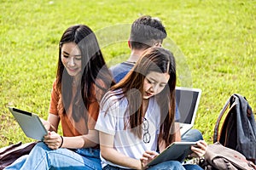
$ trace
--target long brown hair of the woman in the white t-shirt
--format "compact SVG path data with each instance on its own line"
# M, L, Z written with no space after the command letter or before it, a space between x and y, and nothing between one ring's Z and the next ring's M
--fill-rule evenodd
M166 87L155 96L160 105L160 138L167 144L171 144L174 139L174 117L175 117L175 87L176 87L176 64L170 51L164 48L148 48L144 51L142 57L137 61L133 69L115 84L111 91L122 89L117 96L118 99L124 97L128 100L126 111L125 128L130 127L131 132L139 138L142 136L142 129L137 128L143 122L143 82L150 71L168 73L170 75ZM133 90L137 89L137 90ZM108 94L108 97L113 95ZM108 97L104 98L108 99ZM159 139L160 139L159 138Z

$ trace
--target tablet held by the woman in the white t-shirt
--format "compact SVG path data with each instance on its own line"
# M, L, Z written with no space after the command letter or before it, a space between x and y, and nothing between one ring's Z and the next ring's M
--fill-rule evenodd
M190 149L192 145L196 145L196 142L173 142L166 150L163 150L159 156L155 157L154 160L150 161L147 167L159 164L164 161L180 161L192 153Z

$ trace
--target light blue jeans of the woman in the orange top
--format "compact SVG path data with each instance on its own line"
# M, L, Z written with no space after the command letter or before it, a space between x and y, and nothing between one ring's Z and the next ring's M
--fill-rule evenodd
M102 169L100 150L84 148L51 150L40 142L29 155L22 156L5 170L9 169Z

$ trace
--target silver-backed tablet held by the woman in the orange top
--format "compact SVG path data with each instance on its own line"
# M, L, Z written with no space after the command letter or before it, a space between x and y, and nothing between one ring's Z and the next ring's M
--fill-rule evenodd
M44 139L47 130L38 115L13 107L9 107L9 111L15 116L15 120L19 123L27 137L40 141Z

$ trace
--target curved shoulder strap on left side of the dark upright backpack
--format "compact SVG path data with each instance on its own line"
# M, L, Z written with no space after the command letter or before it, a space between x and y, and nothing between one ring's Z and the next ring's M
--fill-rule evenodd
M218 142L219 141L219 124L220 121L222 119L222 117L224 116L224 113L228 110L229 106L230 108L232 108L234 105L236 105L236 103L234 103L234 94L230 97L230 99L228 99L223 107L223 109L220 111L219 115L218 115L218 119L217 122L215 123L215 127L214 127L214 132L213 132L213 143Z

